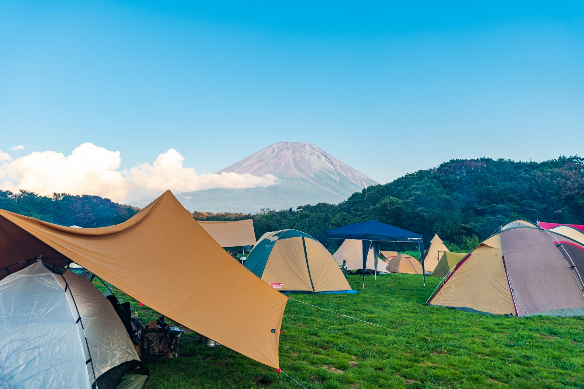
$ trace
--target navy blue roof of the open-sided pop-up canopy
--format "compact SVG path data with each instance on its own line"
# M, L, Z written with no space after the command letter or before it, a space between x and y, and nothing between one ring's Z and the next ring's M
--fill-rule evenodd
M336 239L365 239L368 241L390 242L423 242L422 235L394 227L393 225L380 223L376 220L363 221L345 225L325 232L325 238Z

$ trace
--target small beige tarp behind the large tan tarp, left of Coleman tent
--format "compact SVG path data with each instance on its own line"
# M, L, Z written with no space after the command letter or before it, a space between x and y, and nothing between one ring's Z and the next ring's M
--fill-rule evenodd
M197 223L221 247L253 246L255 245L255 231L253 219L234 221L200 221Z

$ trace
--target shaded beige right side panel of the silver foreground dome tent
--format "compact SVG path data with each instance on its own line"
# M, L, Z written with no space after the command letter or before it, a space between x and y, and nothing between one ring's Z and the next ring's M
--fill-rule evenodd
M79 314L81 314L95 376L101 376L120 363L134 359L140 360L126 327L121 322L112 303L89 280L76 275L71 270L67 270L63 275L71 288ZM65 283L62 277L58 274L54 276L64 289ZM69 298L73 315L77 317L77 311L75 311L75 305L69 293L67 293L67 298ZM81 331L81 325L79 325L79 331ZM83 336L82 332L79 336ZM84 350L85 360L88 360L89 356L85 347ZM93 383L91 364L87 365L87 369L89 381Z

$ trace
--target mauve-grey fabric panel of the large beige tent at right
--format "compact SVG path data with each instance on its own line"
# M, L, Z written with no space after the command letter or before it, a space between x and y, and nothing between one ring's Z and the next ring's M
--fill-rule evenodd
M519 316L584 308L574 272L546 231L510 228L502 245Z

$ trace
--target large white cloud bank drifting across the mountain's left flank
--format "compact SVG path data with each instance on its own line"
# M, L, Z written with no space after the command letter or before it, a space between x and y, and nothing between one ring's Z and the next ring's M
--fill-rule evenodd
M171 148L158 155L154 164L145 162L120 171L120 152L84 143L65 157L55 151L32 152L11 157L0 152L0 189L27 189L39 194L65 192L97 194L116 202L148 202L170 188L174 193L223 188L269 186L273 175L237 173L199 175L183 166L185 158Z

